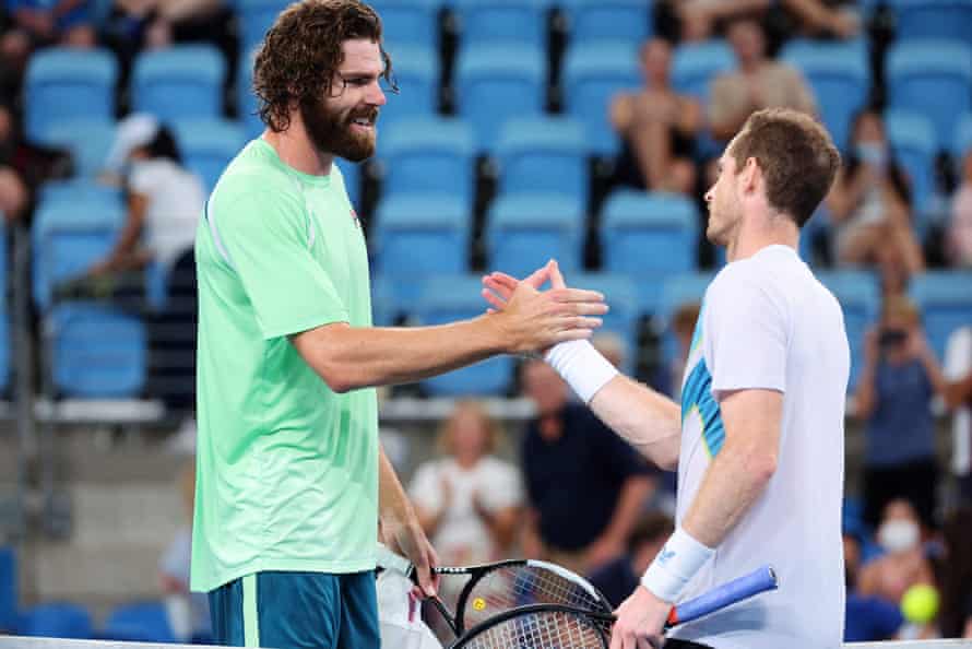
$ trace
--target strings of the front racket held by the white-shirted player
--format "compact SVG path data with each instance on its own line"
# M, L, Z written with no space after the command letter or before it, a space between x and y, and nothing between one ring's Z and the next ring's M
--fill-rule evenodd
M566 611L515 615L470 636L463 649L606 649L607 623Z

